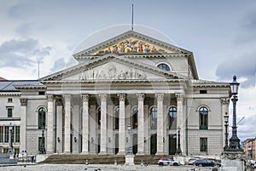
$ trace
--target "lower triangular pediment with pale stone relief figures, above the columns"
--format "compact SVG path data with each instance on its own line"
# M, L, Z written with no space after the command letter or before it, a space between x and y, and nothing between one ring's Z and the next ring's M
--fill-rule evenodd
M133 60L107 54L88 63L80 63L40 79L44 81L127 81L183 79L172 71L163 71Z

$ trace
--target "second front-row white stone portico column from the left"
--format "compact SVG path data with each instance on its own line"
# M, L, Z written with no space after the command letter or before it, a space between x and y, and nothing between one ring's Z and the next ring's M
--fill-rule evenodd
M70 115L71 115L71 104L70 104L71 95L65 94L65 126L64 126L64 134L65 134L65 141L64 141L64 152L70 153Z

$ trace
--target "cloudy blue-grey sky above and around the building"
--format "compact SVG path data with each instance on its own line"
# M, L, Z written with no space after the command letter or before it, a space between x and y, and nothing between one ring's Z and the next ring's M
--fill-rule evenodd
M231 82L236 74L238 136L255 137L255 0L0 0L0 77L38 79L38 61L40 77L74 65L81 42L130 25L131 3L134 30L154 29L192 51L201 79Z

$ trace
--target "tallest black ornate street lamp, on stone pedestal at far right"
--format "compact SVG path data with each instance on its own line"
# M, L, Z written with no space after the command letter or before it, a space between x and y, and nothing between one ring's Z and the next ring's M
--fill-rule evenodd
M232 137L230 138L230 146L226 151L242 151L240 146L240 140L237 137L237 127L236 127L236 101L238 101L237 94L239 84L236 82L236 76L233 77L233 82L230 83L231 94L233 95L233 126L232 126Z

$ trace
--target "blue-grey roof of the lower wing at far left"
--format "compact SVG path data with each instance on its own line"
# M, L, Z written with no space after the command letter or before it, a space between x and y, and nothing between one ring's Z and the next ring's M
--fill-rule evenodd
M20 86L37 86L43 85L38 80L1 80L0 81L0 92L19 91L15 88L16 85Z

